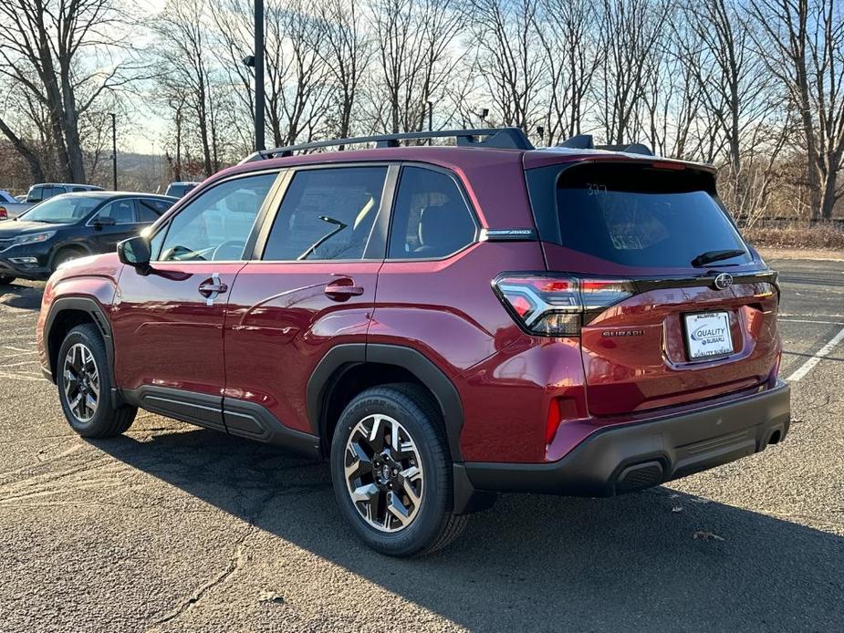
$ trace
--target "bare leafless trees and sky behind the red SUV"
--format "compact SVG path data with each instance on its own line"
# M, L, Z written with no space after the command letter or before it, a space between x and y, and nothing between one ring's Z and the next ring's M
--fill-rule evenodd
M267 144L512 125L720 169L745 226L844 215L842 0L266 0ZM194 180L250 153L249 0L0 3L0 188ZM483 116L488 110L486 116ZM154 124L150 125L150 121ZM153 132L150 130L165 130Z

